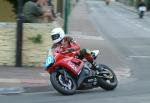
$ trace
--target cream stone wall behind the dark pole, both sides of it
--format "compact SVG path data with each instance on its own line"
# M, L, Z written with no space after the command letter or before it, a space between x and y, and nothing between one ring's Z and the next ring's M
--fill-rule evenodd
M24 24L23 66L43 66L48 49L51 47L50 31L58 27L57 22ZM0 23L0 65L15 65L16 23Z

